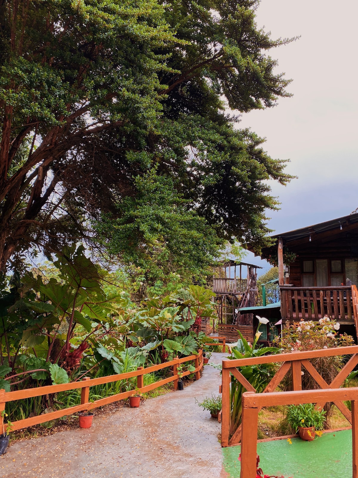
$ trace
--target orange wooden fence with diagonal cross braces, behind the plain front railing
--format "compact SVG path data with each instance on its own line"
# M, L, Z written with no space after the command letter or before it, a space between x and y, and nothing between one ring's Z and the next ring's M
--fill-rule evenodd
M337 376L328 384L321 375L317 372L315 367L309 361L309 359L315 359L317 357L332 357L336 355L353 355L351 359L348 360L346 365L340 370ZM255 365L260 363L281 363L281 366L275 373L273 379L264 389L263 393L267 394L273 392L280 382L284 379L284 376L291 369L292 371L292 382L294 391L302 391L301 384L301 369L302 366L317 382L317 384L322 389L337 389L347 378L349 373L355 368L358 364L358 346L350 347L337 347L337 348L325 348L321 350L310 350L305 352L292 352L287 354L279 355L266 355L264 357L254 357L248 359L237 359L237 360L223 360L222 361L222 413L221 413L221 446L231 446L237 445L241 441L242 437L242 425L240 425L237 430L231 428L230 412L231 412L231 403L230 403L230 383L232 374L243 387L250 392L255 393L256 390L253 386L245 379L238 368ZM278 392L283 393L283 392ZM343 413L347 418L349 423L352 423L352 413L347 409L346 405L341 400L334 400L330 397L329 400L320 400L317 401L316 408L323 408L325 403L334 402L337 408ZM232 435L230 441L229 436Z

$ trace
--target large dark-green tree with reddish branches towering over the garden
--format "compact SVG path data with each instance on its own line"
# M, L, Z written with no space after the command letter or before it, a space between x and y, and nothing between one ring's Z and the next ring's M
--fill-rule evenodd
M264 53L284 41L257 29L257 4L0 0L0 270L16 251L95 243L98 231L113 253L150 236L185 255L169 206L191 219L180 240L261 247L276 205L264 180L289 176L225 113L287 96ZM138 177L154 170L175 194L158 186L148 236Z

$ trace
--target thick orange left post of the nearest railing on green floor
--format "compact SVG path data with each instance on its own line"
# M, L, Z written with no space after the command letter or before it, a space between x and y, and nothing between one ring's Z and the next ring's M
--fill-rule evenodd
M257 424L259 420L259 409L245 408L245 393L242 394L240 478L255 478L257 456Z

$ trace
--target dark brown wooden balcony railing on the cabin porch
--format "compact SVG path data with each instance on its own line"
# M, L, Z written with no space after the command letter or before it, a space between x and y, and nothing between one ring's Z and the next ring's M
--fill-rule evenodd
M328 317L336 320L352 321L352 288L350 286L280 286L282 318L297 321L301 319L317 321L328 315Z

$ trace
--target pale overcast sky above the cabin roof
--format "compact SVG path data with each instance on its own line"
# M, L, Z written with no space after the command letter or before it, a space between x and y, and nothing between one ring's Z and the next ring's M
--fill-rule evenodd
M272 157L290 159L286 170L298 176L286 187L272 186L282 203L269 213L276 233L358 207L357 18L357 0L262 0L257 10L257 25L273 38L301 35L270 50L276 71L293 79L294 96L241 122L266 138Z

